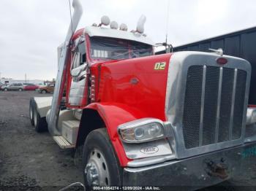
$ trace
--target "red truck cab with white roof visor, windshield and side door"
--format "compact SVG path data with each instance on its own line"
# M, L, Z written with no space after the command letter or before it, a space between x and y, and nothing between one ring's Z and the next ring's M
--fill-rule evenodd
M67 106L80 108L96 101L90 76L100 75L102 63L154 55L154 43L141 34L89 26L72 38L67 65ZM94 80L92 83L95 83Z

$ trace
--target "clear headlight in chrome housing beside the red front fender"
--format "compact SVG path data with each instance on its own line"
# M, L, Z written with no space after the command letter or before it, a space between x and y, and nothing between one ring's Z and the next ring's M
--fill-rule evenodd
M121 140L126 143L141 143L165 137L163 122L154 118L144 118L119 125L118 133Z

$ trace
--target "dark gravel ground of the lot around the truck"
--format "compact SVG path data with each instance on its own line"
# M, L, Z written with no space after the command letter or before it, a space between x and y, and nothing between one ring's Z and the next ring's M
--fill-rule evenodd
M83 182L80 157L73 150L60 149L49 133L36 133L31 126L29 98L33 96L49 94L0 91L0 190L59 190ZM255 180L256 165L230 182L205 190L255 190Z

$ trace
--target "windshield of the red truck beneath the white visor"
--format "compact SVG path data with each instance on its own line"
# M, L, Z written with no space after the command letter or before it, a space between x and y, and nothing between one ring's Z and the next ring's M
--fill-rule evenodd
M90 42L92 59L120 60L153 55L153 47L141 42L99 36L91 37Z

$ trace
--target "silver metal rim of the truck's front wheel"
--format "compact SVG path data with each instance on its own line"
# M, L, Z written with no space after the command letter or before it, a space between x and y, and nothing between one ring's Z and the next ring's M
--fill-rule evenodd
M109 186L110 174L108 169L103 153L99 149L93 149L84 171L89 186Z

